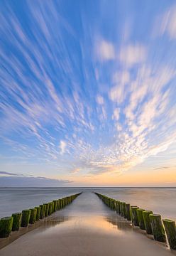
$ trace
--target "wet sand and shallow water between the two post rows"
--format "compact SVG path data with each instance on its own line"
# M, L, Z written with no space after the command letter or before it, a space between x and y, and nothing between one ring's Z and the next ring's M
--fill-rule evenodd
M1 256L172 256L175 252L147 237L109 210L93 193L82 193L38 228L0 250Z

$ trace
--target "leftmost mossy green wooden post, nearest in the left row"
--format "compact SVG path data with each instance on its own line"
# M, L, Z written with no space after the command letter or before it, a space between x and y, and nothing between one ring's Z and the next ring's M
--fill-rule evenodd
M4 217L0 220L0 238L8 238L13 225L13 217Z

